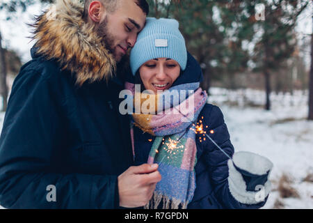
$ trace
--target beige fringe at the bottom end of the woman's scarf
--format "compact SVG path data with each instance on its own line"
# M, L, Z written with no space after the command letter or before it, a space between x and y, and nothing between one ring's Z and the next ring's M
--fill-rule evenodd
M175 198L169 198L164 194L159 194L157 192L153 193L150 201L143 207L144 209L157 209L161 201L163 200L162 209L178 209L179 205L182 206L182 209L187 208L187 201L181 201Z

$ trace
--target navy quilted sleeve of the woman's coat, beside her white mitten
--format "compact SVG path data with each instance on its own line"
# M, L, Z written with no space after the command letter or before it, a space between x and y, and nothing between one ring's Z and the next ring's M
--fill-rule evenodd
M211 109L207 109L203 115L204 125L207 126L207 134L229 157L232 157L234 146L230 141L230 134L227 130L223 113L215 105L211 105L210 107ZM255 203L241 203L236 200L230 192L229 167L227 165L229 157L220 151L210 139L202 141L202 146L205 161L211 174L210 178L213 183L216 199L220 201L224 208L261 208L264 206L267 197L264 201Z

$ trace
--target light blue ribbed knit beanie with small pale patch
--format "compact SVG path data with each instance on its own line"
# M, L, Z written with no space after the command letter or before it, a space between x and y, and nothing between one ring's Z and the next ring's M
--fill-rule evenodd
M177 61L182 70L187 63L187 49L180 33L177 20L147 17L145 28L138 34L131 49L130 66L133 75L143 63L156 58L170 58Z

